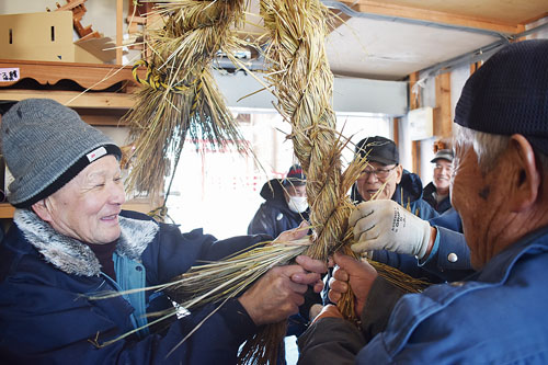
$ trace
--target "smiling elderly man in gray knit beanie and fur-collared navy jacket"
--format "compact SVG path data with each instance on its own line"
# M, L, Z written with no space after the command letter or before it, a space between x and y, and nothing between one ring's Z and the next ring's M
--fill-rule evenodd
M238 298L178 318L165 293L142 288L272 238L216 240L122 212L119 148L55 101L16 103L0 137L18 208L0 244L2 362L236 364L260 326L296 313L308 285L321 289L326 265L299 256ZM119 295L91 299L98 292ZM171 319L152 327L149 315L158 312Z

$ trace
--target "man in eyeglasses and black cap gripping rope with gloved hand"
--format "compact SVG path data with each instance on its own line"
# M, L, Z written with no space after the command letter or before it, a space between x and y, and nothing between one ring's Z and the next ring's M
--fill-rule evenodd
M354 214L366 218L354 227L357 243L352 250L367 251L375 261L432 283L469 274L468 248L454 227L458 216L438 216L422 198L421 179L399 164L396 144L379 136L364 138L356 145L356 158L366 159L367 166L351 196L356 204L368 203Z

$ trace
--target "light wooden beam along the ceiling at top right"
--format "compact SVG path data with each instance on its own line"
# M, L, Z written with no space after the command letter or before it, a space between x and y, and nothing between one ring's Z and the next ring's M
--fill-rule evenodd
M340 0L346 5L362 13L388 15L396 18L414 19L439 24L450 24L458 26L467 26L480 30L488 30L505 34L516 34L520 31L520 24L496 23L492 20L465 16L459 14L433 11L427 9L410 8L370 0Z

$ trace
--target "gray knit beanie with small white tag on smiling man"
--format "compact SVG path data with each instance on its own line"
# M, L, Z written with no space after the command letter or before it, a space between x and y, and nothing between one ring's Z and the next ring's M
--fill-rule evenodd
M119 148L78 113L49 99L27 99L3 116L2 153L14 180L8 201L30 207L52 195L91 162Z

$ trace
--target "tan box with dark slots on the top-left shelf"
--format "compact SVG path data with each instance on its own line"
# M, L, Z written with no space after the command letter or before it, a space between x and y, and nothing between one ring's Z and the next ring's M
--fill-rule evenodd
M71 11L0 15L3 59L103 64L72 37Z

